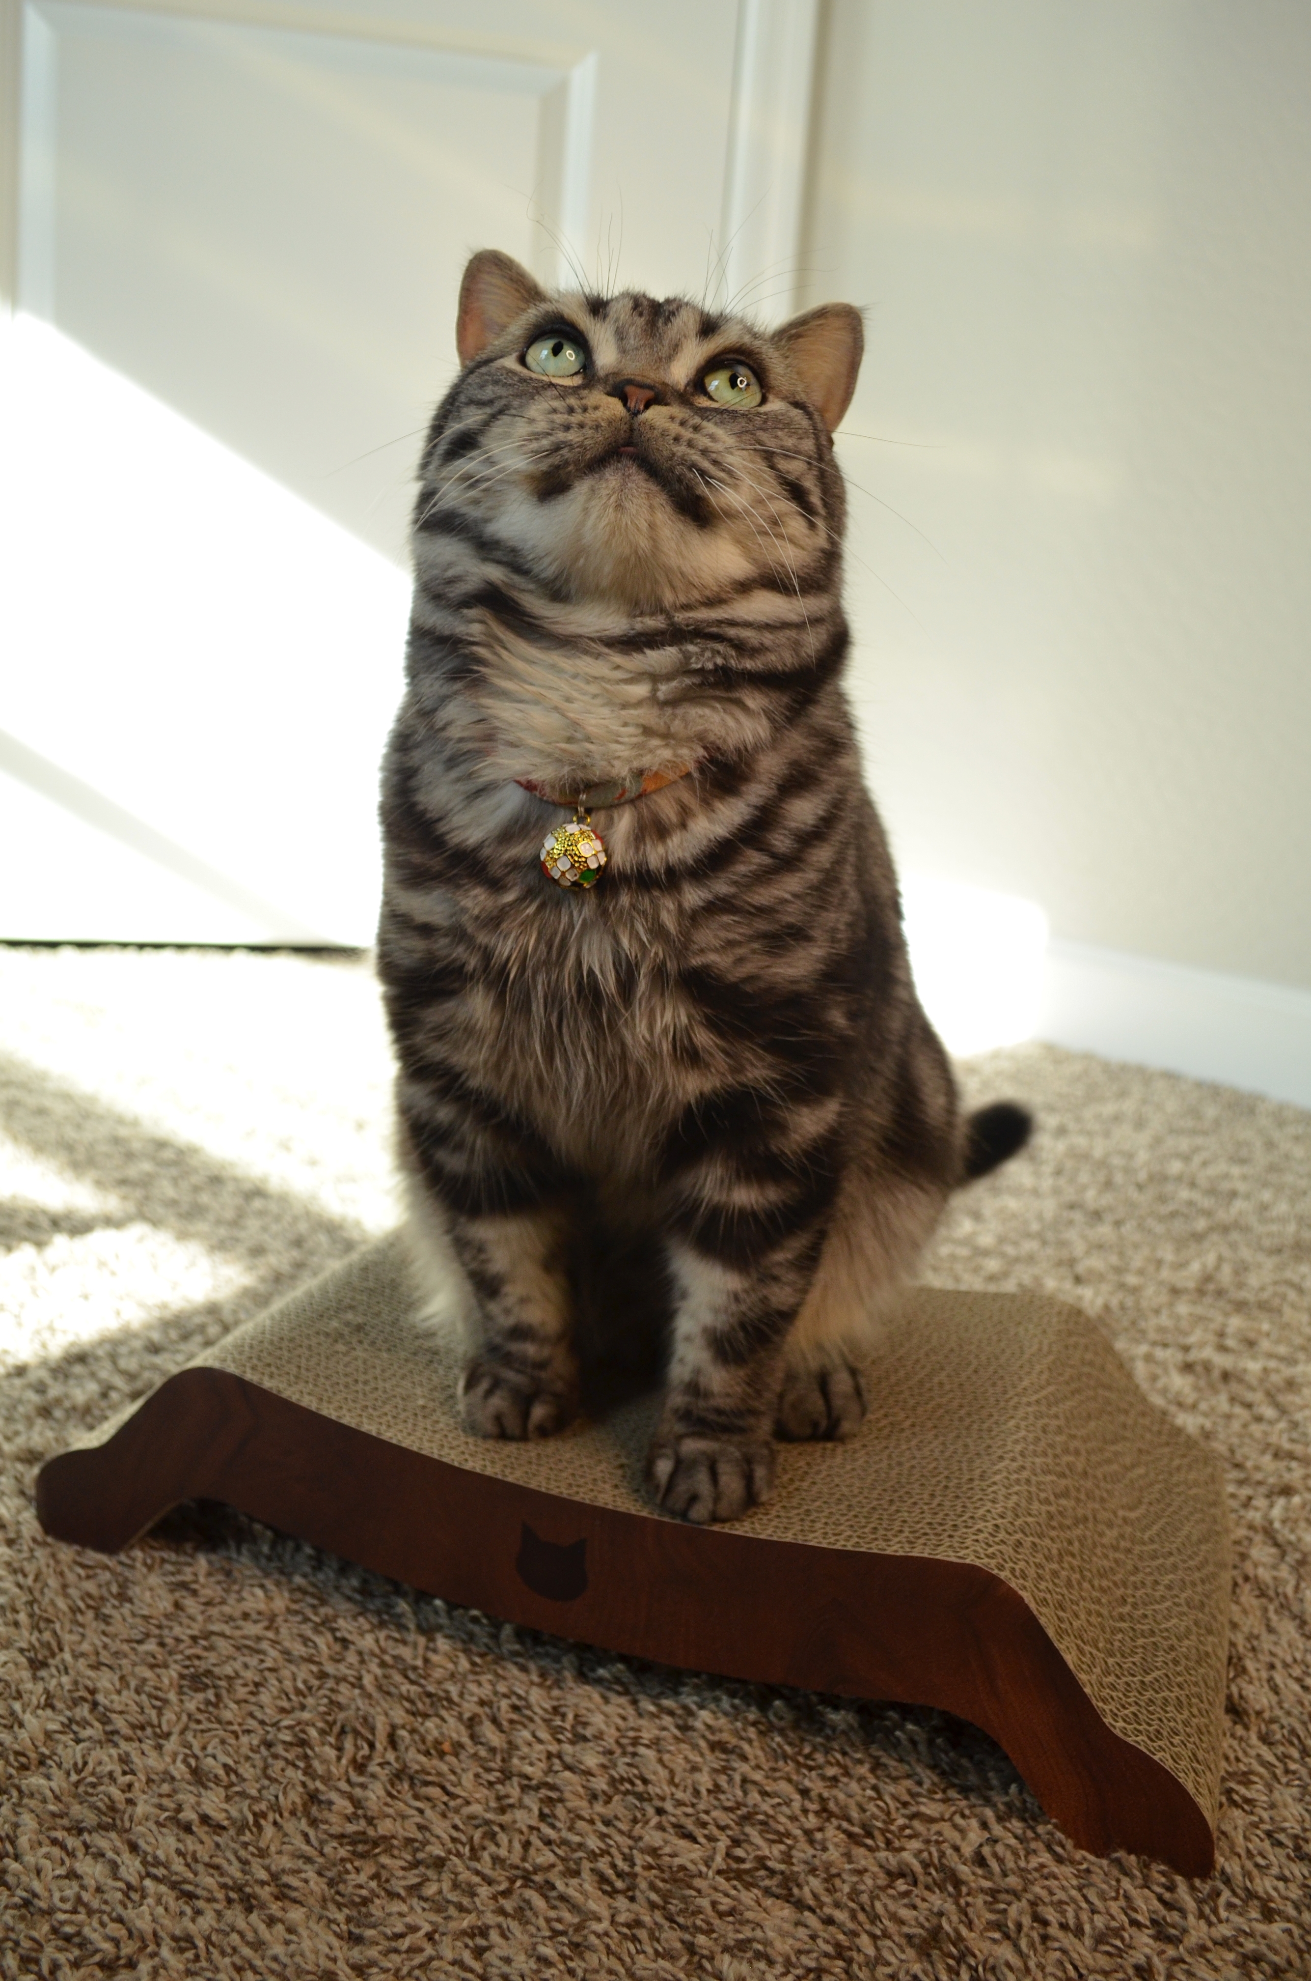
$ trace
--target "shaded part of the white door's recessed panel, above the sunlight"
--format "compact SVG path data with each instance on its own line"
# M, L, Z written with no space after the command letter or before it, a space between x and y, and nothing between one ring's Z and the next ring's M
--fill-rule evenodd
M533 256L560 73L63 0L28 18L51 46L24 305L402 559L459 263Z

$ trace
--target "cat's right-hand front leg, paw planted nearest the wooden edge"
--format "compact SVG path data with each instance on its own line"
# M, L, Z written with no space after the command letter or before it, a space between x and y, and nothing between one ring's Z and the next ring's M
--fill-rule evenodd
M673 1242L673 1347L648 1456L648 1484L667 1513L737 1519L768 1496L782 1345L820 1236L802 1230L753 1258Z

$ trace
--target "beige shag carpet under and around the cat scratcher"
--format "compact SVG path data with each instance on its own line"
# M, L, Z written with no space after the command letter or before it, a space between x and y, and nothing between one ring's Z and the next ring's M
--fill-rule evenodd
M218 1510L48 1541L38 1464L394 1222L364 965L0 951L0 1975L1311 1975L1311 1115L1054 1048L925 1278L1081 1303L1228 1468L1220 1862L1075 1850L943 1714L503 1628Z

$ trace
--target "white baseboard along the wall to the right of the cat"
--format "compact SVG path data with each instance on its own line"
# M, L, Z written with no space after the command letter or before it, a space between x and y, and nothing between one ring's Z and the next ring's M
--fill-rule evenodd
M1311 990L1050 941L1034 1036L1311 1107Z

